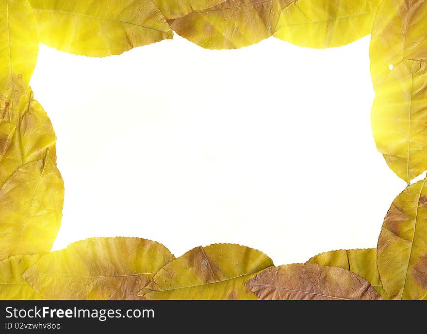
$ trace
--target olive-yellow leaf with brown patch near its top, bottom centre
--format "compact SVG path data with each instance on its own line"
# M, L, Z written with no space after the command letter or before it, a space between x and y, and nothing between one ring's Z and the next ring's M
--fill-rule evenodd
M196 247L168 263L138 294L151 300L256 299L245 282L273 266L259 250L214 244Z

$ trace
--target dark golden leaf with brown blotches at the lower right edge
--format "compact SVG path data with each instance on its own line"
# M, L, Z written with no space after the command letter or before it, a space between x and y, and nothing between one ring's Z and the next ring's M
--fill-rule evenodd
M390 299L427 295L426 180L396 197L378 238L378 271Z

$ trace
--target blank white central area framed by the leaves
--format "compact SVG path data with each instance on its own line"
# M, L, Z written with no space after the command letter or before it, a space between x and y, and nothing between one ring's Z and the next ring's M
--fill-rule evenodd
M405 183L376 150L369 36L310 50L174 40L103 59L41 45L32 87L66 188L54 250L139 236L239 243L276 265L376 247Z

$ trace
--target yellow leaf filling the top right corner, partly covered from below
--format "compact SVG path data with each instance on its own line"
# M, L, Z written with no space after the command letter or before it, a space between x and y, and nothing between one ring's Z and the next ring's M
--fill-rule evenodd
M427 1L386 0L378 8L372 28L371 76L377 90L404 59L427 60Z

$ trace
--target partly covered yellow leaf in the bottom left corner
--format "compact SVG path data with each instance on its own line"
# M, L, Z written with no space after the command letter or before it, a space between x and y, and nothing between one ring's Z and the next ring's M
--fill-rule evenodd
M0 300L40 300L21 274L32 266L40 255L17 255L0 261Z

